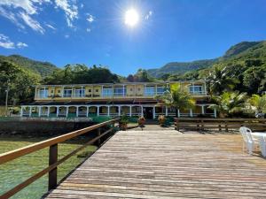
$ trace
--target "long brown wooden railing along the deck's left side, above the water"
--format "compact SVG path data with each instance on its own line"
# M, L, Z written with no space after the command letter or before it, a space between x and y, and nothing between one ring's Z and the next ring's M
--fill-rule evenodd
M41 172L37 172L35 173L35 175L33 175L32 177L30 177L29 179L23 181L22 183L20 183L19 185L17 185L16 187L12 188L11 190L7 191L6 193L4 193L4 195L1 195L0 198L9 198L12 195L15 195L16 193L18 193L21 189L26 188L28 185L30 185L31 183L33 183L35 180L41 178L44 174L46 174L47 172L49 172L49 177L48 177L48 190L51 190L53 188L56 188L58 180L57 180L57 167L58 165L60 165L61 163L65 162L66 159L68 159L69 157L72 157L75 153L77 153L79 150L84 149L86 146L94 143L94 142L98 142L98 145L101 144L101 138L103 136L105 136L108 133L113 132L114 133L114 124L116 122L118 122L119 119L112 119L103 123L100 123L98 125L94 125L94 126L89 126L86 128L82 128L81 130L77 130L68 134L63 134L60 135L58 137L54 137L51 138L49 140L45 140L43 142L37 142L34 143L32 145L29 145L27 147L23 147L20 149L15 149L3 154L0 154L0 165L7 163L9 161L12 161L18 157L23 157L29 153L33 153L37 150L40 149L44 149L47 147L50 147L49 150L49 166L46 167L45 169L43 169ZM108 130L106 130L106 132L101 132L101 128L105 127L105 126L111 126ZM86 134L88 132L91 132L92 130L98 130L98 135L97 137L93 138L92 140L90 140L89 142L86 142L85 144L83 144L81 147L74 149L74 151L72 151L71 153L69 153L68 155L66 155L66 157L63 157L61 159L58 160L58 144L61 142L65 142L66 140L69 140L71 138L77 137L81 134Z

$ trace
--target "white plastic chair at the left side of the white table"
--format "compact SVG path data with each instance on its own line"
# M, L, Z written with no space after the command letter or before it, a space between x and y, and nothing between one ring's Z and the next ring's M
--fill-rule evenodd
M247 149L248 153L252 155L254 147L258 146L259 142L252 137L251 129L247 127L240 127L239 132L243 137L243 151Z

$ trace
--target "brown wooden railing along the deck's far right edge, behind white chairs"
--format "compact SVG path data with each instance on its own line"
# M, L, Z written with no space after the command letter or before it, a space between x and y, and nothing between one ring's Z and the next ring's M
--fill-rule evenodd
M203 131L207 129L216 129L228 132L238 131L239 127L246 126L253 131L265 131L266 119L175 119L176 130L189 129Z

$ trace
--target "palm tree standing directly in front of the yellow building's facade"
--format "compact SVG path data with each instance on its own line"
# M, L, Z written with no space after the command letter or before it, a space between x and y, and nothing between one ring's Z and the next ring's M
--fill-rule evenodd
M181 87L179 84L171 85L170 89L167 89L163 95L155 96L166 107L174 107L176 109L176 117L178 117L178 109L191 109L195 105L195 101L187 91L187 89Z

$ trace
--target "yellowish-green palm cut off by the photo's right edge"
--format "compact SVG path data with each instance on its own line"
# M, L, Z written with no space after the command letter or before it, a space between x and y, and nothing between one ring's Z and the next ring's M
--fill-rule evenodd
M266 113L266 94L263 96L254 94L247 103L250 110L255 112L256 117L258 117L260 113Z

